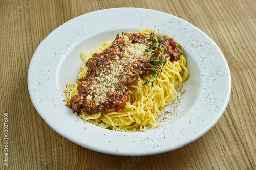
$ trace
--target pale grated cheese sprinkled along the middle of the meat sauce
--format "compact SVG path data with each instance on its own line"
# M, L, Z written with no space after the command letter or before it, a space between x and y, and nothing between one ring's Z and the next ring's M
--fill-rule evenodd
M123 39L124 50L115 48L116 55L112 57L116 62L109 61L108 65L104 68L100 65L102 71L90 84L92 92L87 96L87 100L94 101L97 106L100 103L104 103L108 95L115 91L115 89L118 89L121 79L133 76L133 73L129 69L132 64L140 59L148 59L151 55L145 52L146 43L132 43L127 35L119 35L119 37ZM103 55L100 58L103 58ZM125 92L126 89L127 87L124 87L119 90L118 94L122 95L121 92Z

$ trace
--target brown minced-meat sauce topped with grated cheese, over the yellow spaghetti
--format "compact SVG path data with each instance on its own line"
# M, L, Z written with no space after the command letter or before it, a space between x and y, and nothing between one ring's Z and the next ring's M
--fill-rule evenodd
M66 106L74 113L95 114L121 111L126 105L129 87L139 76L149 74L152 62L148 61L152 53L145 52L147 39L154 34L141 33L117 34L109 48L102 53L94 53L86 62L87 74L78 80L78 95L71 98ZM162 38L161 35L157 35ZM164 39L162 48L168 53L165 59L180 59L183 52L172 38ZM152 47L155 49L155 47ZM162 57L162 54L153 57Z

